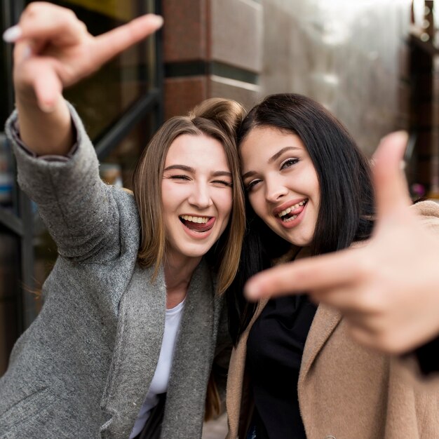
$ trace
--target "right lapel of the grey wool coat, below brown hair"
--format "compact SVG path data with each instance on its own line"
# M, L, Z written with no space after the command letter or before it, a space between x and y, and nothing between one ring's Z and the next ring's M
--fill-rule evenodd
M201 438L221 307L222 298L215 295L212 275L202 261L191 278L184 304L166 395L163 438Z

